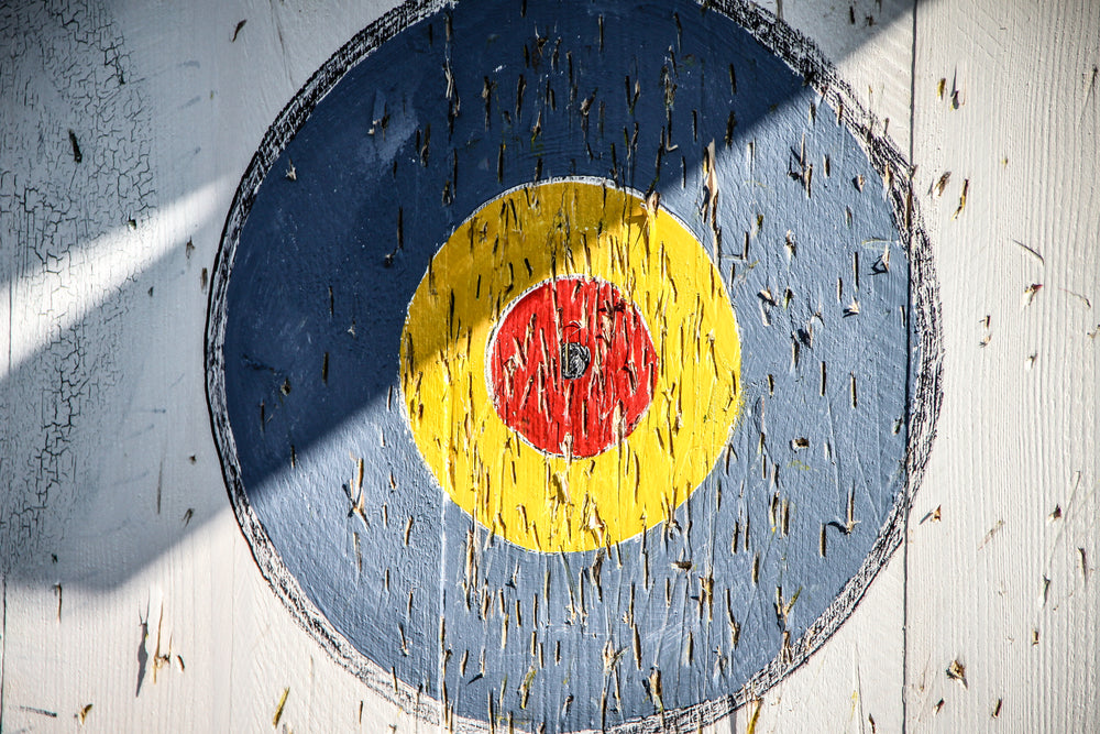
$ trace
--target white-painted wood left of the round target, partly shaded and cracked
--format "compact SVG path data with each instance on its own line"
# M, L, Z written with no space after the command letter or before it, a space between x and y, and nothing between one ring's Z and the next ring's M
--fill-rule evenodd
M30 54L15 66L22 75L4 76L4 109L11 100L19 112L0 124L4 168L20 165L11 165L19 177L6 173L0 185L0 256L4 287L14 294L19 358L0 386L0 571L11 602L2 639L3 728L411 731L408 715L370 699L361 716L359 681L294 624L260 577L229 512L201 374L205 271L237 179L286 99L385 7L329 3L314 13L267 3L170 11L75 0L54 6L56 14L0 13L22 24L4 31L35 42L45 34L44 50L57 44L64 52L56 59L96 74L103 62L96 44L122 39L124 68L134 72L129 88L138 96L124 110L134 131L95 132L105 144L120 135L140 143L139 161L113 163L123 173L151 173L151 187L147 210L130 226L134 215L117 197L99 195L113 191L123 175L96 157L92 129L86 138L66 117L68 106L82 103L80 94L110 81L110 69L95 84L66 89L56 68ZM286 15L282 41L278 13ZM235 24L246 18L233 42ZM43 90L51 85L55 97ZM72 171L63 166L77 164L68 127L82 149L77 172L90 167L84 175L92 183L109 176L98 182L102 191L79 185L79 176L70 186ZM37 144L40 134L48 140ZM46 205L56 208L58 190L72 216L51 219ZM8 206L22 205L26 191L38 194L31 206ZM66 361L74 351L95 359ZM66 432L56 456L68 463L34 463L33 442L66 405L58 380L82 401L61 415ZM53 471L55 464L61 469ZM36 490L48 490L43 522L32 518L19 535L20 516L7 511ZM33 547L19 545L31 538Z

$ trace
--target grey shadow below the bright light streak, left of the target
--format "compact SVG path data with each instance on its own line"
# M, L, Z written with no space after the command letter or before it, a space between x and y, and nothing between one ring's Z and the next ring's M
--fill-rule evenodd
M26 470L4 499L9 580L109 589L221 511L217 484L180 492L216 476L205 437L179 420L201 390L187 374L198 365L157 357L179 353L180 331L200 328L172 306L200 291L199 272L179 243L9 371L8 415L25 416L50 391L32 414L42 423L4 440L6 456L21 460L13 469Z

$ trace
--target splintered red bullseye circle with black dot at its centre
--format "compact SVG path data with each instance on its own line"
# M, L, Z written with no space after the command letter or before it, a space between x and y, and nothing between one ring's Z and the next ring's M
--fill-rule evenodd
M593 457L630 435L653 398L645 319L610 283L547 281L520 296L488 346L497 414L535 448Z

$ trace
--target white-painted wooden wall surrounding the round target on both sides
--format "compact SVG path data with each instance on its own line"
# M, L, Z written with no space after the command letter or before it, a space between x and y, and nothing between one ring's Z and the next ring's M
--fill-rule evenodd
M237 183L388 0L69 4L0 9L4 43L30 44L0 47L2 731L271 731L287 689L278 730L422 731L261 578L202 387L204 269ZM715 728L1100 731L1100 3L768 7L911 151L945 395L906 543L824 649ZM78 32L91 45L57 42ZM119 47L140 105L89 128L81 69ZM119 156L133 210L57 184L69 129L89 163ZM112 132L129 147L97 143Z

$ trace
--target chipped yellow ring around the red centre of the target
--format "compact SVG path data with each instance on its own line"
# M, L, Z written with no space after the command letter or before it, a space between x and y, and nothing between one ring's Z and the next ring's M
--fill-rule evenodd
M660 363L634 432L570 460L505 425L486 359L512 300L579 275L638 307ZM591 550L670 518L710 473L740 412L740 343L721 274L679 220L602 183L556 180L490 201L440 248L409 304L400 382L417 447L460 507L530 550Z

